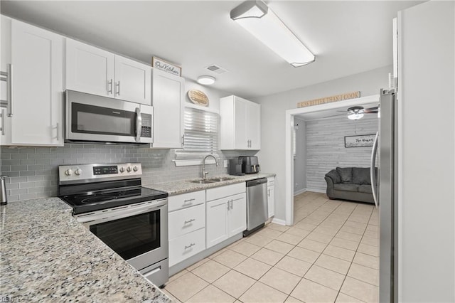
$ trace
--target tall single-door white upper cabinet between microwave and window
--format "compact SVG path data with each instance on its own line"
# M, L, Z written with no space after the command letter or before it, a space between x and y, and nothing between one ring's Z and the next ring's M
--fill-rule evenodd
M181 148L185 80L152 68L154 148Z

